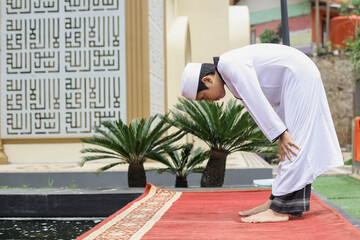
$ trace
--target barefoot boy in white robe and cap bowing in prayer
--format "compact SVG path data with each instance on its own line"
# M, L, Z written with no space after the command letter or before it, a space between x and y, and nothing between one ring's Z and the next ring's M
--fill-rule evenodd
M278 44L255 44L214 58L189 63L181 79L184 97L219 100L224 84L244 104L259 128L279 140L280 164L272 196L263 205L240 212L244 222L287 221L309 210L311 183L343 165L340 146L315 64L302 52Z

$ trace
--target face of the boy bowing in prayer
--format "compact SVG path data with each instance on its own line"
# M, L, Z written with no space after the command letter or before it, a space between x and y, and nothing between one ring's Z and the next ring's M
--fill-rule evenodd
M198 92L196 100L206 100L209 102L220 100L225 96L224 83L219 75L212 74L203 77L202 82L208 89Z

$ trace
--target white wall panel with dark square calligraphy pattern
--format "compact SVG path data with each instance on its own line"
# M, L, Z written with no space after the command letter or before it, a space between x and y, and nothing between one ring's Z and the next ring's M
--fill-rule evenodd
M1 1L1 137L126 119L124 0Z

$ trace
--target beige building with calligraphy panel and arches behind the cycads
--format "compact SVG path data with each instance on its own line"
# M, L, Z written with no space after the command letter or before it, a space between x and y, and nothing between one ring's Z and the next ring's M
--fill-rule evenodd
M250 43L234 1L80 2L0 3L2 164L80 162L93 126L168 112L187 62Z

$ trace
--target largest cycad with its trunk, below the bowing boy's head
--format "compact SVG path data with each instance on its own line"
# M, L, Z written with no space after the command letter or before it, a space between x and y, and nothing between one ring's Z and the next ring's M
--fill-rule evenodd
M211 155L201 177L201 187L220 187L224 183L226 158L236 151L273 152L244 106L231 100L223 103L180 98L166 119L172 125L203 140Z

